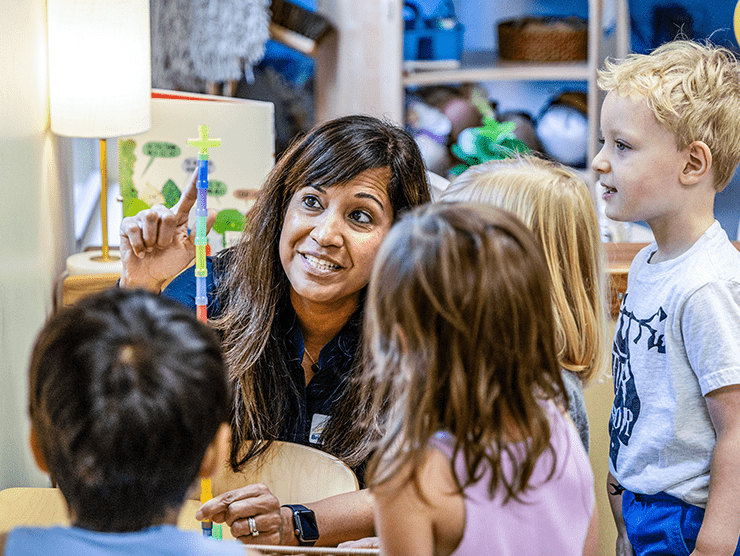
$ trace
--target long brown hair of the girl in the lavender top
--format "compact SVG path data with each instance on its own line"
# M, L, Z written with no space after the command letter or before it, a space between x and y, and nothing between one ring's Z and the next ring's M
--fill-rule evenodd
M549 299L541 247L509 212L436 203L391 229L366 305L363 378L372 414L386 419L371 487L408 464L418 470L445 430L456 439L453 461L464 458L461 488L490 468L491 493L503 487L508 500L527 490L550 447L543 400L564 403ZM507 476L510 457L521 464ZM416 471L399 476L419 486Z

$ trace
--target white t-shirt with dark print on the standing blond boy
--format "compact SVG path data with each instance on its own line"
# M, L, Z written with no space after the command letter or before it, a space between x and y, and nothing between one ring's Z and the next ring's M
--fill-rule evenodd
M625 488L706 506L715 430L704 396L740 384L740 252L719 222L683 255L630 268L614 345L609 469Z

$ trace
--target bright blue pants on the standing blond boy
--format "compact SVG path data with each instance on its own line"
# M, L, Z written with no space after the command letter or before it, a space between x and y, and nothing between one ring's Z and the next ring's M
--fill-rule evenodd
M704 509L664 492L634 494L625 490L622 515L635 556L689 556ZM740 556L740 543L735 556Z

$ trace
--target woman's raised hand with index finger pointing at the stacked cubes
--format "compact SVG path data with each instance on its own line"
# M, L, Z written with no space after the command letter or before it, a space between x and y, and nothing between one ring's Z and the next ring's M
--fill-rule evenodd
M171 277L187 268L195 257L195 226L188 233L188 215L198 197L197 171L178 203L168 209L154 205L121 222L121 287L159 292ZM209 210L206 229L216 220Z

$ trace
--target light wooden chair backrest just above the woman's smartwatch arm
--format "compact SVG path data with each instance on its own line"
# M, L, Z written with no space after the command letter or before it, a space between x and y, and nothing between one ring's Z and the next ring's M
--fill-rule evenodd
M212 483L214 496L263 483L281 504L315 502L360 488L352 469L340 459L310 446L279 441L239 473L225 462ZM200 499L200 489L196 490L192 499Z

